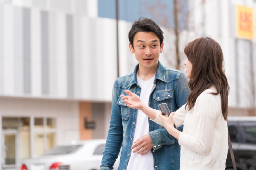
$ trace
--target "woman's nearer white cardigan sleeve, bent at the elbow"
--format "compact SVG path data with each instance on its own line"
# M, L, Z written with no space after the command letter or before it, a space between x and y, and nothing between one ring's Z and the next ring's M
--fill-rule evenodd
M196 100L193 113L196 116L196 134L180 134L179 144L189 150L206 155L211 148L218 102L214 95L204 94ZM186 124L189 126L189 124Z

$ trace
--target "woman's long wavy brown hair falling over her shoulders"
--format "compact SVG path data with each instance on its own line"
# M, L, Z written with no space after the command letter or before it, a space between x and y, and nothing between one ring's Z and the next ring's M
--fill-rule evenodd
M225 120L228 116L229 85L224 71L223 53L219 43L209 37L201 37L188 43L184 49L188 60L192 63L189 80L190 94L188 110L195 105L197 97L211 86L221 96L221 109Z

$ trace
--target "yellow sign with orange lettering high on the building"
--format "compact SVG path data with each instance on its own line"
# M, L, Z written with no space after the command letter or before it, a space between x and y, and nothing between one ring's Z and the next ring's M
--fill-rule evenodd
M253 8L236 5L237 36L254 39Z

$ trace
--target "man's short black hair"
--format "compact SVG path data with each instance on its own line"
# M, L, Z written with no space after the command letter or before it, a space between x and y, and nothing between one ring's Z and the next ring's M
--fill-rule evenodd
M160 45L163 43L163 31L152 19L140 17L138 21L132 22L132 26L128 34L128 38L132 47L133 39L137 32L154 32L160 40Z

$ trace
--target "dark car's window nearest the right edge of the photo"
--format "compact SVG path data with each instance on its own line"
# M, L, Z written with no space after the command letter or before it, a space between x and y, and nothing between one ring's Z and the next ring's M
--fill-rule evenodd
M248 121L240 123L244 130L245 142L256 144L256 122Z

